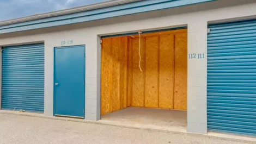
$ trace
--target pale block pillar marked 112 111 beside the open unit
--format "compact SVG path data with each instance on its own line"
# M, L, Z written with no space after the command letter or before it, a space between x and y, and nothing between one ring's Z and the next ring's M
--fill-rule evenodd
M187 131L206 134L207 22L188 23L188 54L196 54L196 58L188 56Z

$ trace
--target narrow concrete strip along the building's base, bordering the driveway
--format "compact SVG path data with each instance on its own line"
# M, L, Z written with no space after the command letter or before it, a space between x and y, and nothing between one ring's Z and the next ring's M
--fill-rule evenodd
M53 120L72 121L72 122L94 123L94 124L102 124L102 125L106 125L106 126L145 129L145 130L152 130L152 131L165 132L165 133L208 136L208 137L216 137L218 139L223 139L223 140L233 140L233 141L241 141L241 142L242 141L243 142L244 141L256 142L256 137L254 138L254 137L231 135L231 134L216 133L216 132L208 132L208 134L205 135L205 134L197 134L197 133L188 133L188 132L184 132L184 130L155 129L155 128L147 128L147 127L141 127L141 126L130 126L130 125L126 126L125 124L121 124L121 123L113 124L112 122L101 121L101 120L100 121L89 121L89 120L82 120L82 119L78 119L78 118L45 116L44 114L38 114L38 113L33 113L33 112L19 112L19 111L11 111L11 110L0 110L0 114L30 116L30 117L48 118L48 119L53 119Z

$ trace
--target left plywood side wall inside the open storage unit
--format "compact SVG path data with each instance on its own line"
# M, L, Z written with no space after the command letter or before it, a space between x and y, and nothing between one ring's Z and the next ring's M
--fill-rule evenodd
M101 115L127 107L129 45L129 37L102 39Z

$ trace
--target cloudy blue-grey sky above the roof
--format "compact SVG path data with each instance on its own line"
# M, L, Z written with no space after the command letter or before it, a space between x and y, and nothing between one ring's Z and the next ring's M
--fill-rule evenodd
M0 0L0 21L107 0Z

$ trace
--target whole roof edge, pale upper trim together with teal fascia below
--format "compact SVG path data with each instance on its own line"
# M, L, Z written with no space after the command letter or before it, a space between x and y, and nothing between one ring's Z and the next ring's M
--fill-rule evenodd
M64 26L212 1L217 0L115 0L5 21L2 22L4 25L0 25L0 34Z

